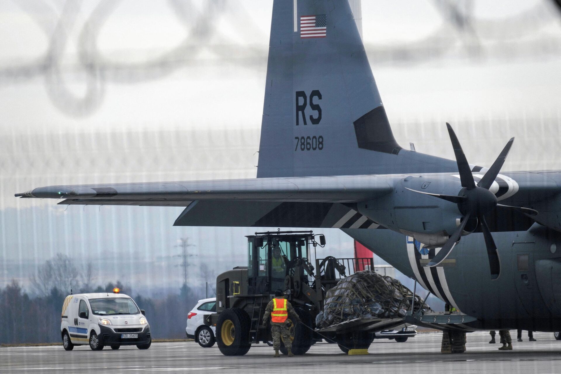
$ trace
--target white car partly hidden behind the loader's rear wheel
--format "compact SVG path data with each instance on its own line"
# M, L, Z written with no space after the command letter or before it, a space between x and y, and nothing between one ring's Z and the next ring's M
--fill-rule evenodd
M216 298L211 297L197 302L187 315L187 338L195 339L203 348L210 348L216 341L216 327L205 325L205 316L216 313Z

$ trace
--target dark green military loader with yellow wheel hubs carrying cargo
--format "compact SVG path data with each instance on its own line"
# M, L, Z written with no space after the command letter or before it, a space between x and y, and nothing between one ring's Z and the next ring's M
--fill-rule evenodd
M323 308L325 292L348 275L346 269L359 266L373 269L373 259L329 256L316 259L314 268L310 262L310 247L315 249L318 245L325 246L325 237L312 231L263 232L247 236L247 266L236 266L217 277L217 313L205 321L216 326L220 352L243 355L251 344L272 340L269 327L261 326L261 320L266 305L278 289L283 291L305 325L292 324L295 329L292 352L304 354L321 339L312 330L315 317ZM280 351L287 353L284 345Z

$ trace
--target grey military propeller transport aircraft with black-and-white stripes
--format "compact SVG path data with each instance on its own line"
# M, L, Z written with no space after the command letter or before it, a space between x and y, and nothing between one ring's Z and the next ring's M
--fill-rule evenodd
M561 330L561 170L501 173L513 139L471 165L450 125L456 160L399 146L346 1L275 0L267 69L257 178L16 196L185 206L174 225L341 228L477 318L464 327Z

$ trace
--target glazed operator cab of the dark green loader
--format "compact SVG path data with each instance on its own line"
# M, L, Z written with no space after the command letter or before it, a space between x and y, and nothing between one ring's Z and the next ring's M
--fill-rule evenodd
M298 271L298 258L310 260L309 247L313 243L311 231L266 232L247 236L248 294L272 294L277 289L289 288L287 276L294 276ZM304 278L312 275L300 274Z

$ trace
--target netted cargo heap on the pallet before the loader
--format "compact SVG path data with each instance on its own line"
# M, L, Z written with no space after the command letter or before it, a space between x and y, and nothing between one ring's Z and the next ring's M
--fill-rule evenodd
M339 324L354 318L402 318L411 308L413 293L397 279L371 270L343 278L328 290L324 310L316 317L316 327ZM415 312L431 311L415 296Z

